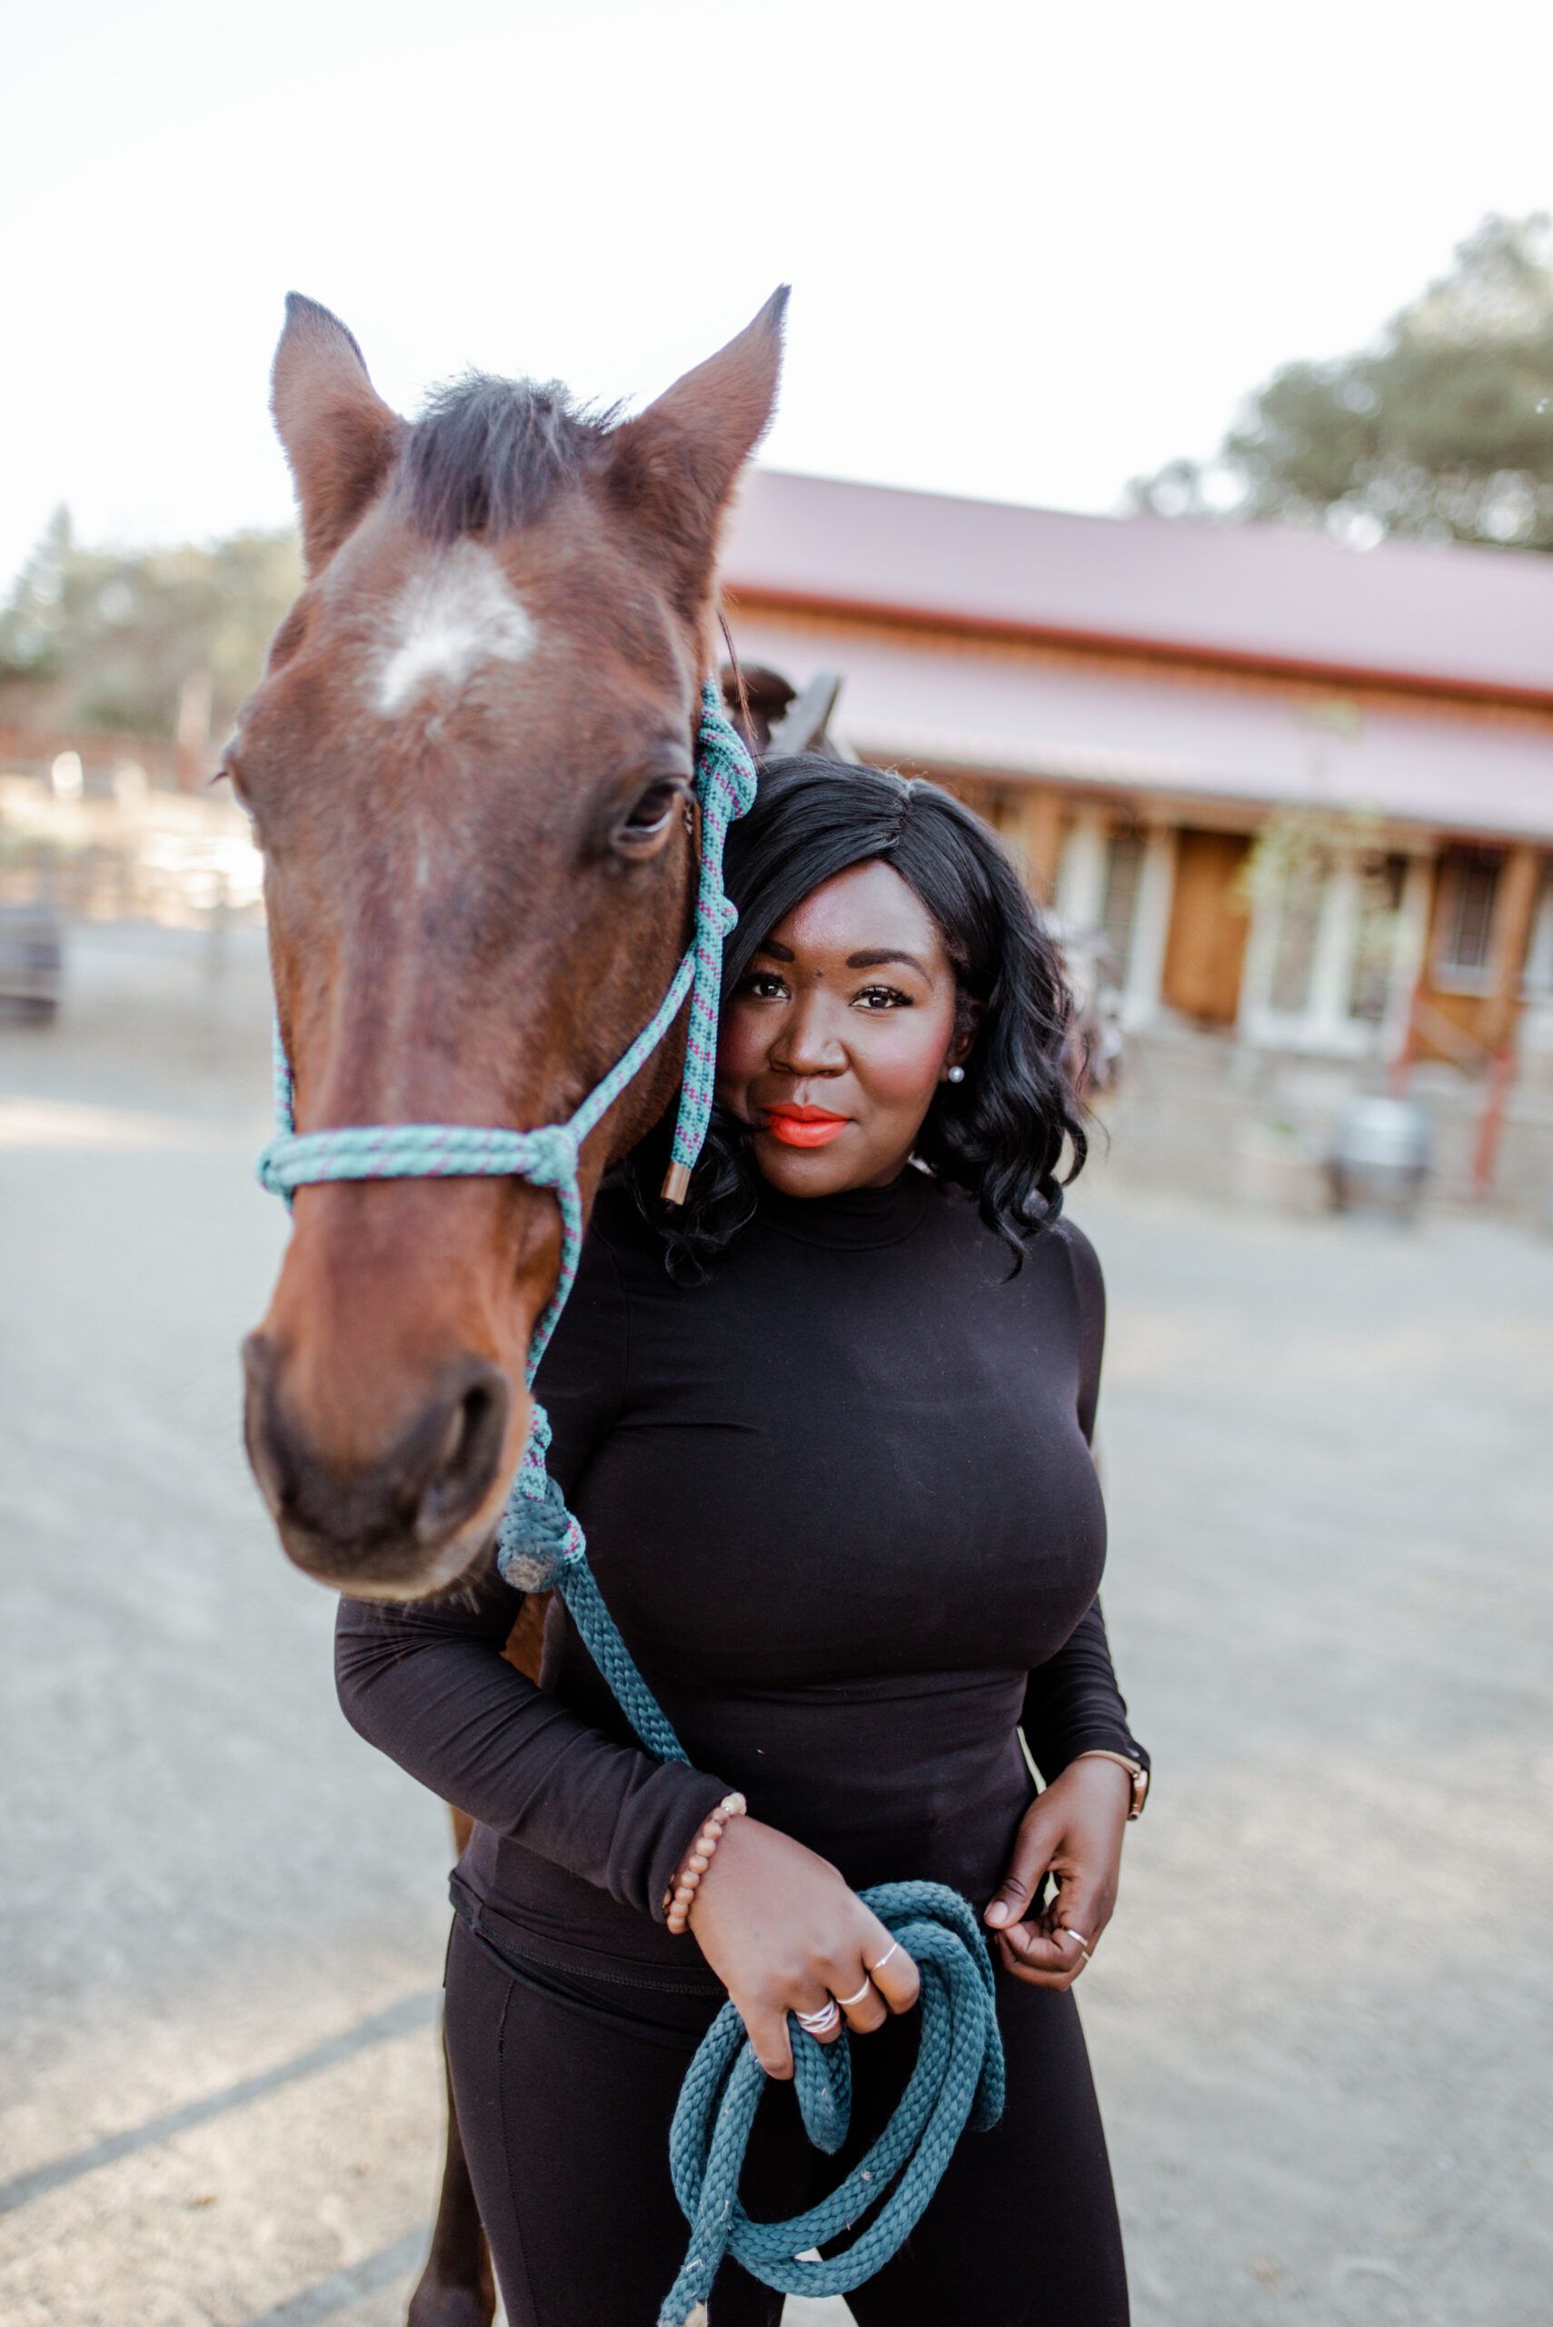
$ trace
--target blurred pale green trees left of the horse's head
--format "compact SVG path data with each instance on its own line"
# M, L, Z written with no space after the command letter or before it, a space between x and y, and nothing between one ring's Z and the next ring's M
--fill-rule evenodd
M0 610L0 724L172 738L207 679L226 726L300 586L293 533L86 549L58 510Z

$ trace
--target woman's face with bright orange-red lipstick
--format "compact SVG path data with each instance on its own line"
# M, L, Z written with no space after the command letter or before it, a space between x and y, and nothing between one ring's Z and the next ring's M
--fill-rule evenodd
M932 915L874 861L811 889L756 952L723 1012L716 1091L758 1124L756 1161L783 1194L888 1187L969 1042Z

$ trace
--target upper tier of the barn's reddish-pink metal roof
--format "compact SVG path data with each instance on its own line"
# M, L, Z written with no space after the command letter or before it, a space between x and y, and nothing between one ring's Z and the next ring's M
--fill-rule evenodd
M723 584L969 631L1553 703L1553 556L1072 517L756 470Z

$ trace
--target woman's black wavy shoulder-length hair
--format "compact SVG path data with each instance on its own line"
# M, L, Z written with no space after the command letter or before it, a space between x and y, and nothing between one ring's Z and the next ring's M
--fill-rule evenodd
M1062 1184L1088 1154L1069 1052L1074 1005L1053 940L995 833L960 800L886 768L802 754L760 770L756 805L728 833L725 887L739 926L723 956L723 1003L756 949L821 882L888 863L932 915L960 991L962 1024L981 1003L965 1082L939 1084L916 1157L967 1189L1023 1261L1023 1245L1062 1210ZM714 1105L684 1205L660 1201L674 1112L625 1159L625 1177L665 1243L679 1282L711 1264L756 1212L751 1129ZM1062 1177L1062 1150L1072 1164Z

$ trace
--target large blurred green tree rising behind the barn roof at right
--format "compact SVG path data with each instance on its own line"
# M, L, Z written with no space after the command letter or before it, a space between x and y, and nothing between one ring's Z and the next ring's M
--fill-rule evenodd
M1369 349L1286 363L1214 461L1130 484L1158 517L1553 549L1553 233L1488 216Z

